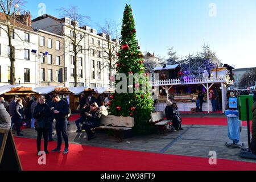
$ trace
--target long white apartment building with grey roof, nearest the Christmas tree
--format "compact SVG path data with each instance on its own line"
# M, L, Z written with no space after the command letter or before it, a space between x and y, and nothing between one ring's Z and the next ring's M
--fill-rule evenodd
M74 36L73 23L77 24L77 32L80 36L79 49L77 55L77 68L74 66L74 53L72 52L73 45L69 37ZM105 60L106 40L104 34L97 34L97 31L88 26L80 27L78 22L71 22L69 18L55 18L51 15L42 15L32 20L32 27L53 34L64 36L64 65L65 65L65 86L74 86L74 72L77 69L78 86L105 87L109 84L109 68ZM79 27L79 28L78 28ZM114 44L115 42L113 42Z

